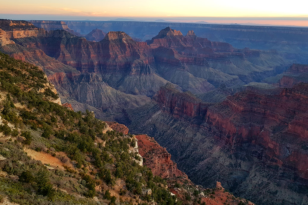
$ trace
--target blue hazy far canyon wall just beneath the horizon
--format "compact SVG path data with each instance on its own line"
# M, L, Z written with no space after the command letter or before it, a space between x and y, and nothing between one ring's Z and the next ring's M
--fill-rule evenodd
M142 41L151 39L166 27L186 33L193 29L203 38L227 42L235 48L253 48L285 52L288 59L307 64L308 29L303 27L219 25L204 23L134 22L134 21L66 21L69 28L87 34L98 28L104 31L125 31ZM249 33L249 35L247 35ZM268 35L271 33L271 35Z

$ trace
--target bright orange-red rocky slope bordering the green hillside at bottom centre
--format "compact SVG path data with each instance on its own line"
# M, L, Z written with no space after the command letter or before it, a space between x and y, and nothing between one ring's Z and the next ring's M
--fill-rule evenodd
M137 135L136 138L144 164L151 168L153 175L167 177L167 183L171 185L168 186L169 190L184 204L254 204L225 191L220 182L216 182L216 187L211 189L195 186L188 176L176 167L166 148L162 148L154 138L148 135Z

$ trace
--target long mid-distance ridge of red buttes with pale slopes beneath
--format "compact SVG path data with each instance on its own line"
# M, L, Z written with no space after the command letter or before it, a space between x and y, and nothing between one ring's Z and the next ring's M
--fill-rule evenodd
M181 90L201 94L222 83L232 86L243 81L259 80L288 64L278 54L257 51L259 59L256 55L251 56L250 53L254 52L247 49L212 42L193 35L193 31L183 36L170 27L161 30L152 39L153 42L148 41L148 45L134 41L120 31L108 32L103 40L91 42L64 30L52 30L59 26L67 30L63 22L35 23L42 23L41 27L50 24L51 30L47 33L29 23L28 27L43 32L42 35L37 34L38 37L27 38L26 41L6 37L2 44L14 42L17 45L2 49L15 58L42 66L48 75L55 70L95 73L112 88L132 95L151 97L168 82L176 84ZM2 25L3 29L8 28L7 31L13 28L9 22L3 21ZM245 57L245 52L255 64ZM47 59L57 65L43 64ZM270 66L267 65L269 61Z

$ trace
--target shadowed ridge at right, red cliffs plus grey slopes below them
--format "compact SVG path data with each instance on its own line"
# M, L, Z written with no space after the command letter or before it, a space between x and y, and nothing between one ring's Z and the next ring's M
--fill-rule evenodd
M201 100L167 87L118 120L153 136L195 183L218 180L258 204L307 203L307 84L248 87L203 112Z

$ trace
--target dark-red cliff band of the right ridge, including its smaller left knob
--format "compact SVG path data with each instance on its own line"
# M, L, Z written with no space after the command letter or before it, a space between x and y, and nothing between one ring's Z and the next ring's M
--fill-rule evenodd
M287 141L308 142L308 84L298 84L291 89L277 90L273 95L247 90L228 96L215 106L202 103L188 93L181 93L171 84L162 87L153 99L164 112L174 117L202 117L206 122L202 129L212 132L214 137L227 145L231 152L241 149L243 144L262 147L258 157L268 164L290 168L304 179L308 179L308 155L295 162L293 154L306 155L301 146L288 145ZM215 128L215 129L214 129ZM281 136L291 138L283 141Z

